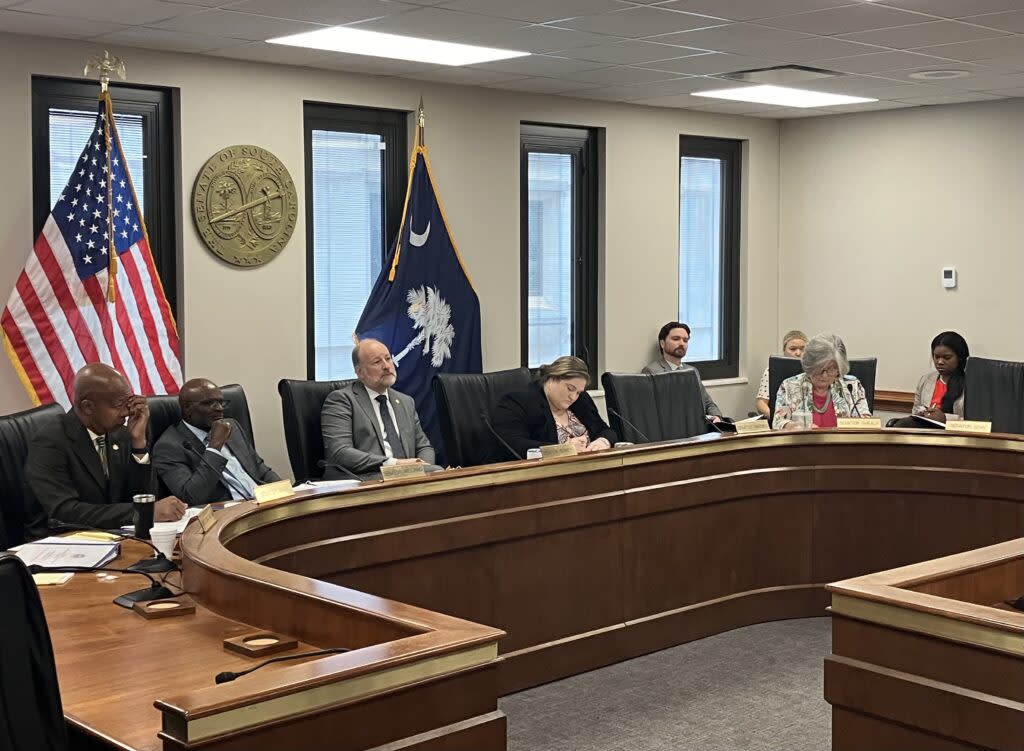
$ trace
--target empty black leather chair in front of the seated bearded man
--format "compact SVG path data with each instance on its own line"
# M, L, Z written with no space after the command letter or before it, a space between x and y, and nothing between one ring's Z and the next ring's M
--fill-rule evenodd
M601 385L610 408L608 422L621 441L672 441L708 431L700 384L693 371L657 375L604 373Z

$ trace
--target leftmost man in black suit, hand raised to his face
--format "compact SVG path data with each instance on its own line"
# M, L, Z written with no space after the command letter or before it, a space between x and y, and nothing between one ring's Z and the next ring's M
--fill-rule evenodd
M25 486L29 533L36 538L49 534L48 519L102 529L130 525L132 496L156 489L145 399L100 363L75 375L74 394L72 411L29 442ZM184 510L169 496L157 501L154 518L175 521Z

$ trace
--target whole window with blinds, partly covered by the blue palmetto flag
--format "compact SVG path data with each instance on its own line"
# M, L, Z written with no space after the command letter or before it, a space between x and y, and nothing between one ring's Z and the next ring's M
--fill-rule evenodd
M393 110L305 105L310 378L352 378L352 333L401 221L406 121Z

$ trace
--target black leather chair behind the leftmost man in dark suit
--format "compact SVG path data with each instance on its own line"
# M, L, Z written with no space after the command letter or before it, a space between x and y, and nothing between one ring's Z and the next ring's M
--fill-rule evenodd
M29 439L45 422L62 414L60 405L50 404L0 417L0 550L26 540L25 460Z

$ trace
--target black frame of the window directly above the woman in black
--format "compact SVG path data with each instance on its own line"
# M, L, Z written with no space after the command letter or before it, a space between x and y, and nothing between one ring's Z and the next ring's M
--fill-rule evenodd
M522 122L519 126L519 349L529 366L529 154L573 157L572 351L598 384L598 129Z

